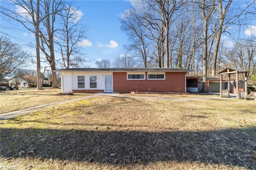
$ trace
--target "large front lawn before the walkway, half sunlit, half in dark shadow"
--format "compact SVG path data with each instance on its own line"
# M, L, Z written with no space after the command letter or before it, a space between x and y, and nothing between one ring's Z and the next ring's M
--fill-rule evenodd
M0 121L0 169L256 169L256 101L93 97Z

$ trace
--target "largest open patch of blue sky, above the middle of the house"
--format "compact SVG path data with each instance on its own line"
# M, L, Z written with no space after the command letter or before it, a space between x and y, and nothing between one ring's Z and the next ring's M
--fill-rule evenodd
M79 0L76 5L83 13L82 22L89 27L86 53L95 61L110 59L125 53L127 38L120 30L120 15L130 8L126 0ZM91 45L91 46L90 46ZM94 61L94 62L95 62ZM95 66L94 64L91 65Z

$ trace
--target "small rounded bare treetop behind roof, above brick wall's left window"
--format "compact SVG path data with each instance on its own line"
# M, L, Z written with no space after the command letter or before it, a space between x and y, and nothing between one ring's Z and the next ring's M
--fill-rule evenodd
M124 54L121 57L116 57L112 63L116 68L132 68L136 66L136 60L130 55Z

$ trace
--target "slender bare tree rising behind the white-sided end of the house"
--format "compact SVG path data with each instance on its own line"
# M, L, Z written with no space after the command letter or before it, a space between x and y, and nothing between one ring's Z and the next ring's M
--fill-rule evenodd
M56 31L56 43L60 46L62 57L58 63L65 69L76 68L78 63L83 65L84 62L90 62L80 50L80 46L83 46L83 41L86 40L88 27L81 24L80 11L73 4L67 4L64 8L60 11L60 28Z

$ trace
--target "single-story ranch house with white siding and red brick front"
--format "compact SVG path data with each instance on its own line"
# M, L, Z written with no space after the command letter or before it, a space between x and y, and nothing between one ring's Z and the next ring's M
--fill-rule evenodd
M186 92L188 69L72 68L56 70L62 93Z

